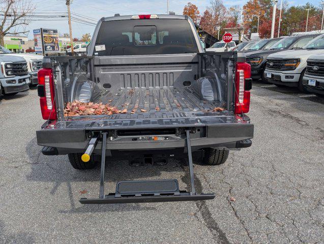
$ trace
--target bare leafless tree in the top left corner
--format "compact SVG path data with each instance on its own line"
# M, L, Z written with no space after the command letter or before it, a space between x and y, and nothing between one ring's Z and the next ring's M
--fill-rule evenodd
M27 34L27 25L35 5L31 0L1 0L0 1L0 45L4 46L4 37L8 34Z

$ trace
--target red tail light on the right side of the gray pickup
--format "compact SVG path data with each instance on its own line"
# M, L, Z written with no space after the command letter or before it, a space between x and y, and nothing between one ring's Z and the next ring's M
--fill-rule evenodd
M235 75L235 114L248 113L250 110L251 66L237 63ZM247 84L249 82L249 84Z

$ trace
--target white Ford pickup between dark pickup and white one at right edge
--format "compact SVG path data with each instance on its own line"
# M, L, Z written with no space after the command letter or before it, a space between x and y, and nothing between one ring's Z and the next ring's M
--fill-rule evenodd
M264 77L269 83L277 86L298 87L301 92L307 92L303 86L307 59L316 53L324 53L324 35L316 37L302 49L269 55Z

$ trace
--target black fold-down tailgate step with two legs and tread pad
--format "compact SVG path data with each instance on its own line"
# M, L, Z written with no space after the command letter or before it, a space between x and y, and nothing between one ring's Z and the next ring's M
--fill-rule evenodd
M195 190L190 130L186 130L187 151L189 159L190 187L191 191L180 191L178 180L137 180L117 182L116 192L104 194L105 163L107 132L102 136L101 170L99 198L81 198L82 204L115 204L115 203L140 203L140 202L174 202L174 201L198 201L211 200L215 194L197 194Z

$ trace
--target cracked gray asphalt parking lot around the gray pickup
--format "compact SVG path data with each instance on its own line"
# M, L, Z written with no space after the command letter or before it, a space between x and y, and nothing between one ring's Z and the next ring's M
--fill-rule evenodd
M267 87L268 85L268 87ZM265 87L262 87L265 86ZM43 156L37 90L0 101L0 243L324 243L324 100L255 83L252 147L222 166L195 165L212 201L81 205L97 197L99 167ZM106 192L128 179L178 178L188 168L111 161ZM108 190L109 188L109 190Z

